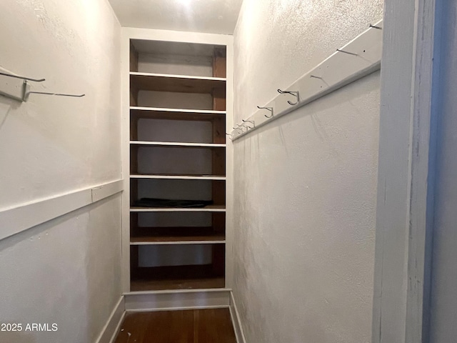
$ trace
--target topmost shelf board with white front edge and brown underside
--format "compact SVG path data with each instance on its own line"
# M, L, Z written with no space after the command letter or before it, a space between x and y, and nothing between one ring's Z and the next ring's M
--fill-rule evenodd
M187 76L130 72L131 88L145 91L175 91L179 93L211 93L225 89L226 79L221 77Z

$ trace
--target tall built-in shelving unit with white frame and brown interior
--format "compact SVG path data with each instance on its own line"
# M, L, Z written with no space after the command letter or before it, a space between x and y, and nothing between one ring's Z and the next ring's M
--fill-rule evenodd
M231 37L124 29L122 56L123 172L129 175L124 292L225 290L233 240L226 141L233 106ZM158 207L158 201L164 204Z

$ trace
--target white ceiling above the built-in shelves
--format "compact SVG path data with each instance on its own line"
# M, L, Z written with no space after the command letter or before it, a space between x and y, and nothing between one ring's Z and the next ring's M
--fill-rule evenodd
M109 0L122 26L233 34L243 0Z

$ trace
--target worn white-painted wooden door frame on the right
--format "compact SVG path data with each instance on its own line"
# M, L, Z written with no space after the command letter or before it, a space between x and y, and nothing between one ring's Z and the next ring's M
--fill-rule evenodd
M428 342L440 8L384 4L373 343Z

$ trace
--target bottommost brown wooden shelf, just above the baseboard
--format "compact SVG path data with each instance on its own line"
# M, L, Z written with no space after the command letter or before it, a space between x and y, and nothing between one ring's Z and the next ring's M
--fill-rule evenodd
M132 269L131 292L162 289L224 288L225 279L215 275L211 264Z

